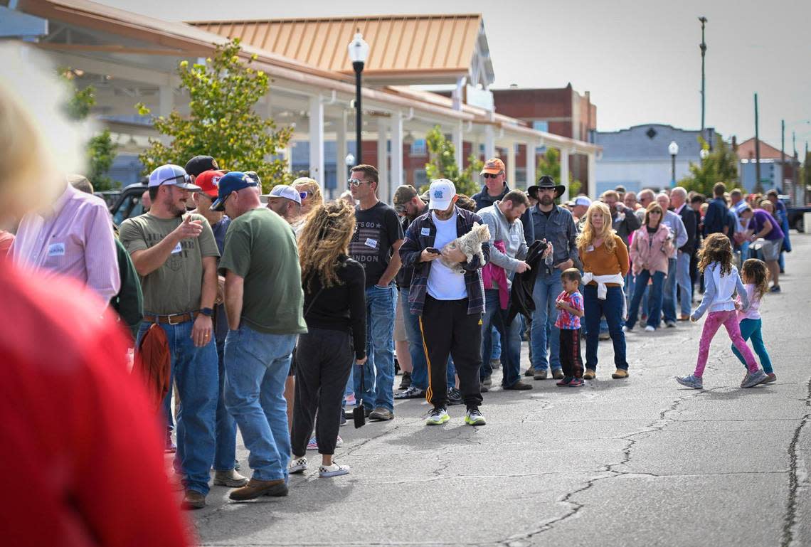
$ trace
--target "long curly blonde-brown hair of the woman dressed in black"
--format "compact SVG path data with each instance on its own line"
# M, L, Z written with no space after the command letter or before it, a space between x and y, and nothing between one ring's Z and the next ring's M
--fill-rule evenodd
M354 207L343 199L315 206L298 236L298 260L304 283L319 276L324 287L341 284L338 257L349 254L354 226Z

